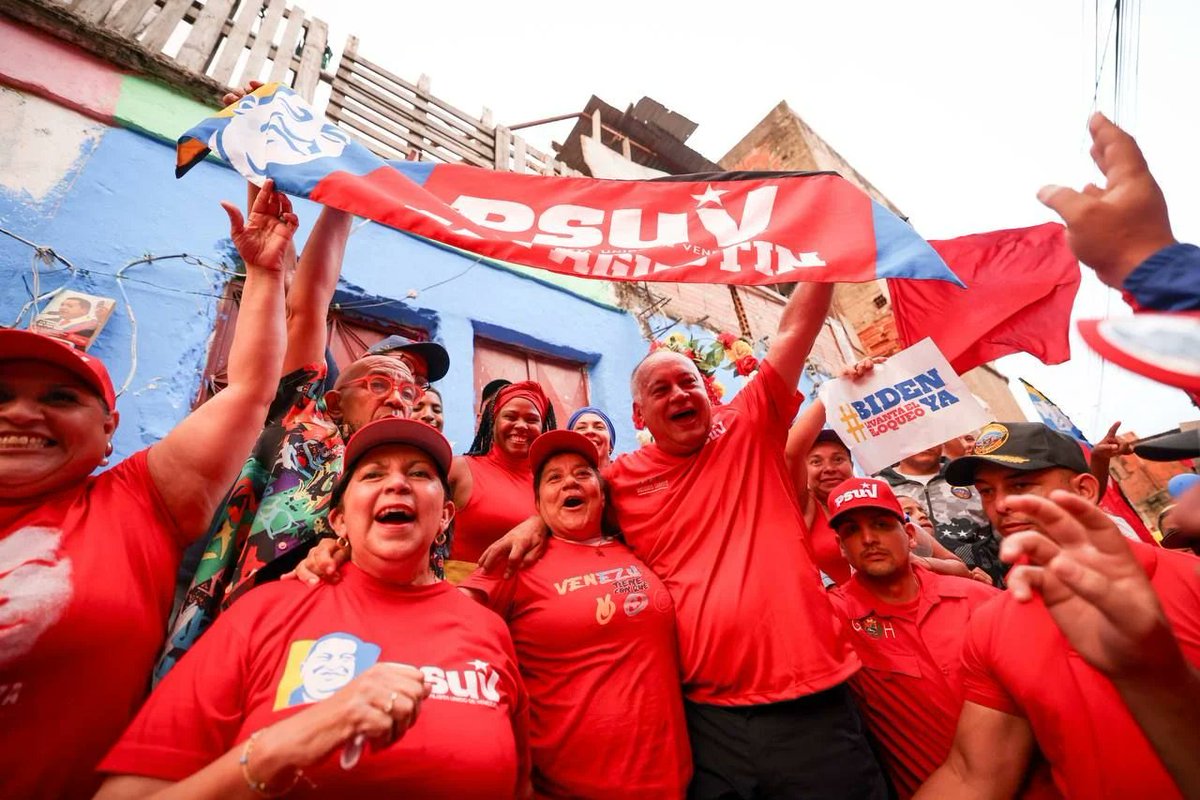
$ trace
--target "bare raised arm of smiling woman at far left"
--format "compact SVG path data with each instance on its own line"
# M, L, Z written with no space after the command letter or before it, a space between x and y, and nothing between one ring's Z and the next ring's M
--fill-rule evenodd
M283 361L283 275L296 217L268 181L250 221L223 203L230 233L246 261L246 285L233 345L229 385L150 447L158 493L187 539L202 535L238 476L266 419Z

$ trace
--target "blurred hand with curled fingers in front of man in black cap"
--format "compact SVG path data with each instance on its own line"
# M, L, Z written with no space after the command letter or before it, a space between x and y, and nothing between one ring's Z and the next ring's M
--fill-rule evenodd
M1037 524L1001 545L1006 561L1028 561L1008 576L1018 600L1040 594L1075 651L1112 679L1178 669L1183 656L1158 596L1108 515L1062 491L1003 503Z

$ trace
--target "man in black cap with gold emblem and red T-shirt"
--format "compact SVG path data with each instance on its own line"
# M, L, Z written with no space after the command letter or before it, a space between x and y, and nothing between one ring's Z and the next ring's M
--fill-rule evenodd
M984 428L973 455L950 464L947 477L979 491L992 527L1013 537L1003 548L1009 560L1022 554L1025 545L1019 542L1040 541L1034 537L1050 529L1045 507L1051 504L1042 498L1086 518L1097 529L1099 545L1090 547L1099 549L1102 561L1124 564L1127 572L1135 566L1145 576L1126 575L1142 588L1148 582L1169 621L1166 630L1194 674L1200 667L1195 557L1116 541L1116 525L1092 503L1094 479L1080 477L1080 461L1075 441L1044 425L994 423ZM1111 670L1096 667L1103 662L1092 651L1108 634L1096 627L1091 636L1068 639L1060 627L1069 630L1073 615L1094 619L1094 613L1081 599L1058 593L1061 587L1051 581L1039 581L1042 591L1032 596L1022 585L972 616L962 652L966 703L958 732L946 763L918 796L1007 796L1020 782L1036 741L1068 798L1182 798L1139 726L1146 722L1130 714L1136 704L1127 705L1124 690L1108 676ZM1140 682L1153 682L1154 660L1147 658L1141 669L1146 674ZM1180 702L1187 698L1181 694ZM1165 752L1160 742L1156 736L1159 752Z

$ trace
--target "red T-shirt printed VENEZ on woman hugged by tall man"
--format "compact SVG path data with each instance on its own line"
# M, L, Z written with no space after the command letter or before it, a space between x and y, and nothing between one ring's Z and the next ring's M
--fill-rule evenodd
M534 789L545 798L683 798L691 778L674 604L620 542L551 537L504 581L476 571L509 620L529 691Z

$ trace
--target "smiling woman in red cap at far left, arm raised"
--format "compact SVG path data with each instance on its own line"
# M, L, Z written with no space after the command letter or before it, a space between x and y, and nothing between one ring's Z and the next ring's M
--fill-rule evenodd
M185 547L208 529L263 425L283 361L284 253L270 182L248 223L229 385L164 439L98 474L118 411L104 366L0 331L0 794L91 796L142 703Z

